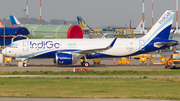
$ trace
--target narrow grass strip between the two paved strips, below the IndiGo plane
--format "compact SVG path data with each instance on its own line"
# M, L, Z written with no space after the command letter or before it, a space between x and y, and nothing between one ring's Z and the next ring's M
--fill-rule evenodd
M0 71L0 75L180 75L179 70L171 71L86 71L86 72L72 72L72 71Z

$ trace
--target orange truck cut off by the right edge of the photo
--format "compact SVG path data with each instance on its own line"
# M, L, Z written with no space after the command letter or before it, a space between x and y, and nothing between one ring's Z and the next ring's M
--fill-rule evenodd
M180 67L180 53L174 52L171 56L166 57L165 59L165 68L176 68Z

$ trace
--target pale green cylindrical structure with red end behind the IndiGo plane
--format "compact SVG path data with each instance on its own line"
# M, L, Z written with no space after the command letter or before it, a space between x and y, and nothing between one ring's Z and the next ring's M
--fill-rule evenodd
M83 38L83 31L78 25L20 25L26 27L29 39L70 39Z

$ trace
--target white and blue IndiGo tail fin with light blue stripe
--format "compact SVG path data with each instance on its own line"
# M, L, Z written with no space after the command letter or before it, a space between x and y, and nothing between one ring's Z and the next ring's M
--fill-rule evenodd
M154 39L169 39L171 26L173 23L175 11L167 10L151 28L151 30L142 38L146 39L146 42L150 42Z

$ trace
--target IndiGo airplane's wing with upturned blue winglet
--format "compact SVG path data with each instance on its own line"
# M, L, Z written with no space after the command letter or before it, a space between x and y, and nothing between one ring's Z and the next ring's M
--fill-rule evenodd
M116 40L117 40L117 37L111 42L111 44L109 46L107 46L105 48L82 50L82 51L77 51L76 53L91 55L92 53L103 52L105 50L112 48L114 46L114 43L116 42Z

